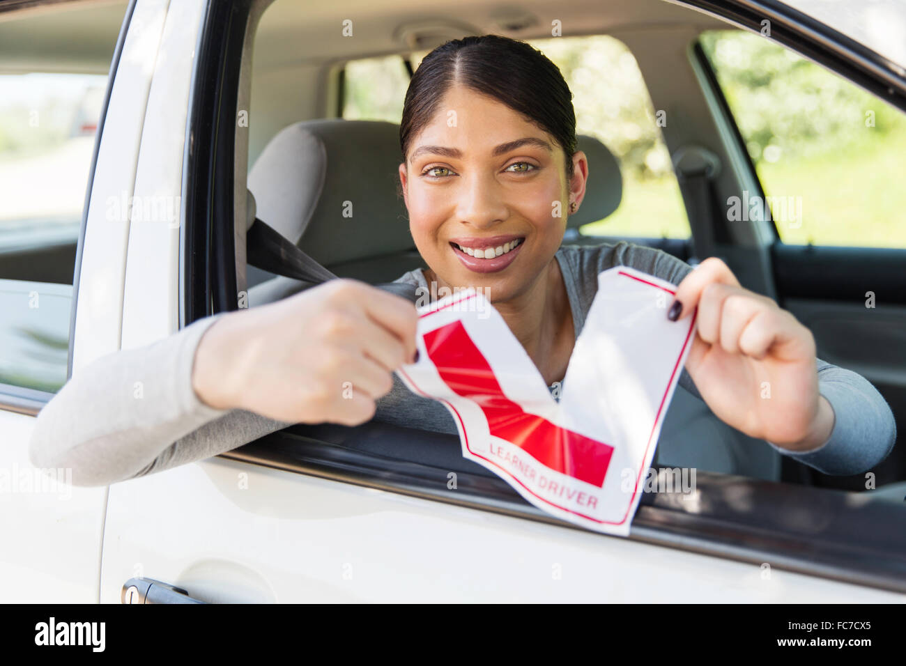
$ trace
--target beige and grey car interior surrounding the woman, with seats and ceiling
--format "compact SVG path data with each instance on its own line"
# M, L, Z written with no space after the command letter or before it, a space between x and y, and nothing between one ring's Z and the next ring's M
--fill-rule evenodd
M0 21L0 60L13 63L11 71L75 68L106 73L124 6L122 2L91 4L73 12L72 16L78 14L78 30L72 30L72 16L37 13L27 19L33 22L27 30L21 24ZM690 234L676 238L584 232L582 227L606 220L620 208L624 174L604 142L582 134L579 148L588 156L590 168L588 194L570 218L564 243L629 240L690 263L720 256L743 286L776 298L812 329L820 358L861 372L882 391L898 423L906 423L906 288L901 275L906 250L784 246L770 220L732 226L724 220L721 227L703 201L702 192L712 193L713 200L719 201L743 190L761 191L726 103L695 51L703 32L735 26L661 0L556 5L525 0L517 8L465 0L455 10L439 11L426 11L425 5L412 0L379 5L359 0L342 5L275 0L266 8L261 3L256 6L259 23L244 55L250 92L240 99L247 105L241 107L248 114L247 136L240 140L246 129L237 128L236 142L237 159L247 162L247 169L236 169L236 189L247 189L254 197L254 208L252 198L246 204L254 215L241 216L246 228L257 217L333 274L370 284L388 283L424 267L398 193L399 125L343 118L343 76L348 63L388 56L408 63L410 54L427 52L465 34L535 40L551 38L552 25L559 25L564 38L611 35L630 50L653 108L667 111L670 120L660 133L673 160ZM343 33L346 20L352 21L350 36ZM67 34L78 37L67 39ZM58 45L56 53L61 44L66 46L63 63L41 53L40 46L51 43ZM352 201L353 217L342 217L344 201ZM0 253L0 279L72 285L74 237L4 246ZM236 247L236 263L240 288L248 290L252 307L300 288L290 277L246 265L245 247ZM829 272L828 265L843 266L843 270ZM861 314L860 294L866 281L847 286L860 275L870 276L871 285L882 285L879 292L888 295L888 303L870 325ZM853 339L863 344L853 349ZM426 435L426 442L434 440ZM780 456L763 441L747 438L681 387L663 426L656 464L815 487L864 489L863 475L829 477ZM895 447L873 471L878 486L873 492L901 502L906 494L906 454L901 447Z

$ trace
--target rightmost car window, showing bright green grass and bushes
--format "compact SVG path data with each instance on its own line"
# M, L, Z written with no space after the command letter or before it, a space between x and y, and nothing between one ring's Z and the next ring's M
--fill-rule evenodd
M760 35L701 45L784 243L906 247L906 114Z

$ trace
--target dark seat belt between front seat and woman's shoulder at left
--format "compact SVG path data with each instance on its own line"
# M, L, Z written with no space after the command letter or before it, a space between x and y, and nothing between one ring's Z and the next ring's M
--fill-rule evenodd
M255 222L246 232L246 262L255 268L304 282L306 284L303 289L337 279L337 275L306 255L298 246L258 217L255 217ZM400 295L413 303L418 298L416 285L390 282L374 286Z

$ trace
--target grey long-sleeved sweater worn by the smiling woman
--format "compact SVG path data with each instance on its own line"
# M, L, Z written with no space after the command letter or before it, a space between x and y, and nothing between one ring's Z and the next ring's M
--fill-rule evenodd
M585 323L597 275L628 265L679 285L691 267L660 250L626 243L562 246L556 259L573 313L575 335ZM421 270L396 282L424 285ZM298 291L299 283L276 278L249 290L251 306ZM215 410L192 388L195 350L207 327L224 314L191 323L145 347L101 357L72 376L41 410L29 456L38 468L72 468L76 486L104 486L236 449L292 425L247 410ZM817 360L819 391L834 408L834 430L822 447L792 454L777 451L827 474L855 474L882 461L893 447L892 411L861 375ZM136 397L135 382L143 391ZM680 386L699 398L683 370ZM457 433L439 402L410 392L394 375L393 388L377 405L375 420L410 428ZM662 436L663 438L663 436Z

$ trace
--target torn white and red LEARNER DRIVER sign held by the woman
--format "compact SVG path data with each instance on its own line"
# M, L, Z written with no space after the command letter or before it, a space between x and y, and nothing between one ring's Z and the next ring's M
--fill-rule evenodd
M482 294L419 309L419 362L398 371L453 415L465 458L546 512L627 536L695 314L670 322L676 288L625 266L598 275L560 402Z

